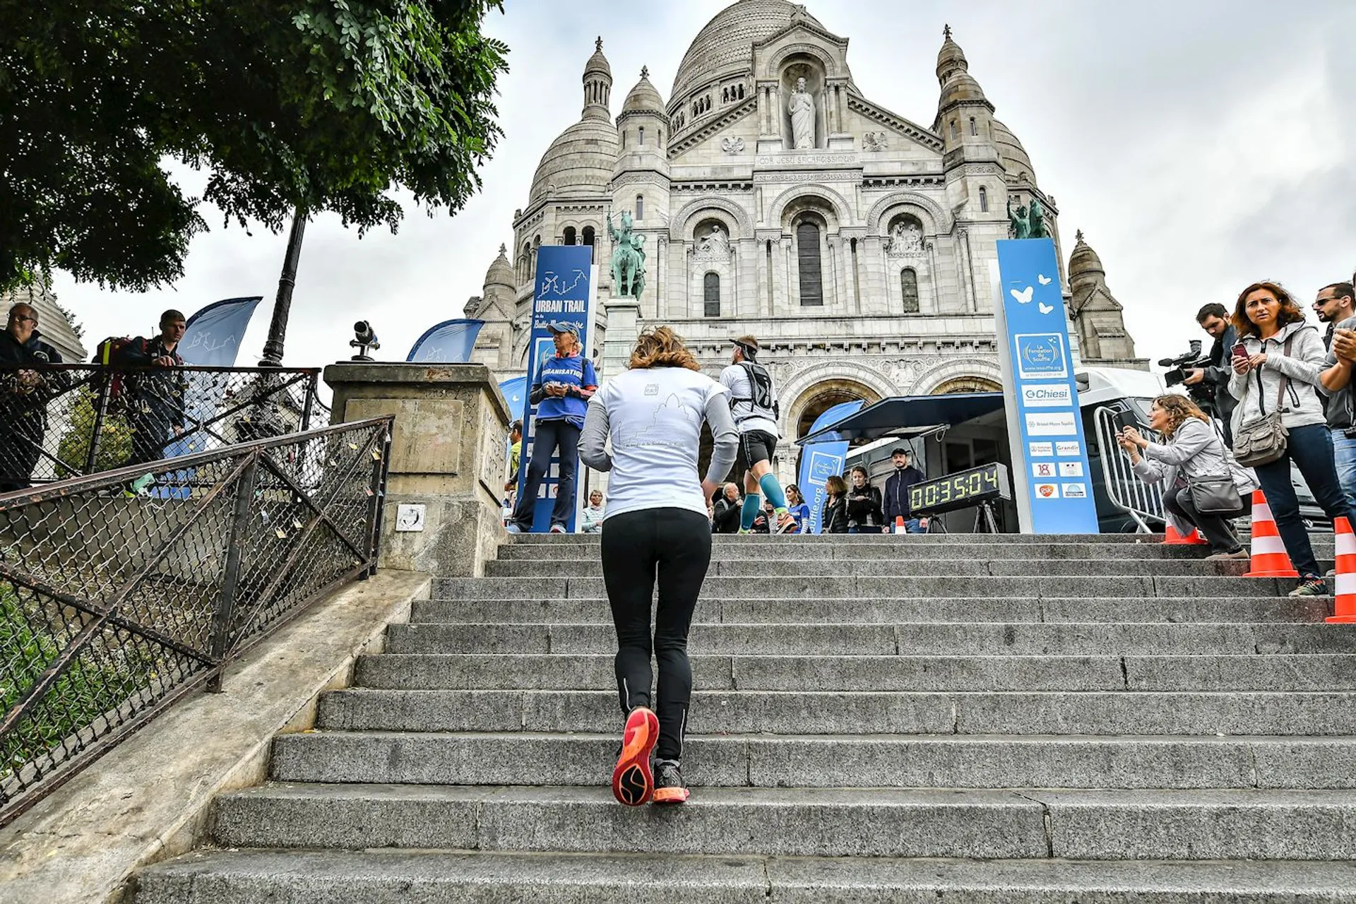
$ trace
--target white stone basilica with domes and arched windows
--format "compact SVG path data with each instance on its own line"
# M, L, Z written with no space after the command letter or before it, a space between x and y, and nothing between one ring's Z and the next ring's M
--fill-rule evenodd
M475 359L523 371L536 249L582 243L601 264L590 351L605 375L645 325L673 325L712 371L753 333L788 440L839 401L997 388L994 243L1009 202L1032 199L1058 243L1059 207L949 30L937 80L918 125L858 91L848 38L804 5L736 0L697 34L667 103L643 70L613 118L599 39L582 117L542 155L511 249L466 305L487 321ZM645 236L639 302L612 297L609 210ZM1096 252L1079 243L1071 264L1086 270L1063 275L1085 361L1143 366Z

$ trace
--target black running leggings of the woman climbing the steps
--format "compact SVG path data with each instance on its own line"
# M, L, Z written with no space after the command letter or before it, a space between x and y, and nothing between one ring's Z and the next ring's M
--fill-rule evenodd
M659 759L682 759L682 737L692 701L687 629L701 581L711 564L711 522L685 508L643 508L613 515L602 529L602 575L617 626L617 694L622 714L651 706L659 664ZM655 636L650 637L650 603L659 580Z

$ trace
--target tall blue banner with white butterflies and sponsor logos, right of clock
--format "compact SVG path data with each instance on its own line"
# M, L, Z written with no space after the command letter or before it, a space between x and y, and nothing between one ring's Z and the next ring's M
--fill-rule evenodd
M1096 534L1088 440L1050 239L998 243L995 309L1022 533Z

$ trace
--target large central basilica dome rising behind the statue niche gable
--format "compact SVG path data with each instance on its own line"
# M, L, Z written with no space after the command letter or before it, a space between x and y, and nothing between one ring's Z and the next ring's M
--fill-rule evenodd
M678 64L670 99L682 99L717 76L751 70L754 43L789 26L797 12L796 4L788 0L738 0L717 12L697 33ZM823 28L810 14L804 20Z

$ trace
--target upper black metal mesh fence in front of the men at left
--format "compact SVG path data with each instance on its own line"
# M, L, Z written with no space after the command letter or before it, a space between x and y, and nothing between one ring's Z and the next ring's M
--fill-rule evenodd
M328 423L319 369L0 365L0 492Z

